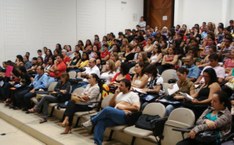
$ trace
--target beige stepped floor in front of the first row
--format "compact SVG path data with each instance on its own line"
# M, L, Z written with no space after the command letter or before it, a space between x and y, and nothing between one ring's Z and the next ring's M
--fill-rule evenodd
M71 134L61 135L64 128L58 120L49 119L39 124L39 114L26 114L12 110L0 103L0 142L2 145L93 145L93 136L83 128L75 128ZM118 141L104 142L103 145L124 145Z

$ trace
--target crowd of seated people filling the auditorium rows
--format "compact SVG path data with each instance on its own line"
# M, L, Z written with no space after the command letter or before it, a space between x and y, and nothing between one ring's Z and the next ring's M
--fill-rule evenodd
M67 134L71 130L74 113L90 109L81 104L93 100L101 93L102 86L98 84L102 79L113 94L117 92L116 100L112 100L110 106L114 106L115 111L122 110L116 112L120 116L164 97L169 101L180 102L178 105L165 103L167 115L174 108L186 107L193 110L196 118L199 118L207 107L214 105L213 96L220 95L217 94L218 91L225 91L228 98L233 95L233 29L233 20L228 27L224 27L223 23L215 27L211 22L204 22L202 26L195 24L191 29L186 25L170 29L138 26L133 30L119 32L117 37L109 33L102 40L95 35L93 42L87 39L85 44L79 40L74 50L70 45L62 47L58 43L54 50L47 47L37 50L38 56L31 57L26 52L23 56L17 55L15 62L7 60L2 63L0 99L7 106L27 113L39 111L43 107L41 123L47 121L49 103L68 101L65 119L61 124L66 127L64 134ZM176 70L178 78L174 84L179 89L172 95L166 94L163 88L163 83L170 82L164 82L160 77L169 69ZM75 83L69 82L71 79L68 73L71 71L76 72ZM54 92L42 97L38 104L33 104L31 99L40 91L47 91L51 82L58 82ZM172 86L169 85L168 88ZM82 94L71 95L79 87L86 89ZM138 95L129 94L132 90ZM187 93L193 99L186 100L181 93ZM155 99L145 100L147 95L153 95ZM71 99L71 96L77 98ZM108 111L112 112L112 109L103 110L103 114L108 114ZM106 127L103 127L101 121L106 117L103 114L101 112L91 119L91 124L97 126L94 130L96 144L102 142L100 133L103 131L100 132L99 129L105 130ZM104 122L110 126L124 124L121 117L117 122L111 119ZM195 132L193 130L190 136Z

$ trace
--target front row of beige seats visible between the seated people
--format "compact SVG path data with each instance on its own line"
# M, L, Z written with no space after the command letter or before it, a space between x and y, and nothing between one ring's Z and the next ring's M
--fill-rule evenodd
M56 86L57 82L53 82L49 85L48 91L52 92L54 87ZM81 93L84 88L77 88L75 89L72 93ZM44 94L38 94L38 95L44 95ZM100 107L95 107L91 111L83 111L83 112L76 112L73 120L74 127L79 127L79 124L81 124L81 120L86 121L90 116L95 115L100 109L106 107L109 105L109 101L112 98L112 94L109 94L108 96L102 98L101 95L97 99L97 102L101 103ZM34 100L35 101L35 100ZM65 111L64 108L59 108L57 107L57 103L51 103L50 104L50 116L54 116L54 112L56 111L61 111L62 113ZM142 111L143 114L148 114L148 115L159 115L160 117L165 117L165 106L161 103L150 103L148 104L144 110ZM58 117L58 116L56 116ZM63 119L63 117L60 117L59 119ZM182 139L182 136L179 132L173 131L173 128L177 127L182 127L182 128L187 128L187 127L192 127L195 122L195 116L194 113L186 108L178 108L175 109L170 116L168 117L165 126L164 126L164 131L163 131L163 139L162 139L162 144L163 145L174 145L175 142L179 141ZM135 125L133 126L127 126L127 125L120 125L120 126L115 126L115 127L110 127L109 128L110 134L109 134L109 140L112 139L113 133L115 131L123 132L128 135L132 136L132 145L135 143L136 138L144 138L148 139L151 141L155 142L161 142L160 139L157 137L155 138L153 135L153 132L150 130L145 130L141 128L137 128Z

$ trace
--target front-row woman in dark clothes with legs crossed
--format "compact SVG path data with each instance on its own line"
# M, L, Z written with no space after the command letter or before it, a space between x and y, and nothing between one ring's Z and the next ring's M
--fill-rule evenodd
M54 91L51 93L51 95L43 96L37 105L28 110L28 112L34 113L43 108L43 117L42 120L40 120L40 123L44 123L47 121L49 103L62 103L69 99L70 82L68 80L69 75L67 73L63 73L60 76L60 80L55 86Z

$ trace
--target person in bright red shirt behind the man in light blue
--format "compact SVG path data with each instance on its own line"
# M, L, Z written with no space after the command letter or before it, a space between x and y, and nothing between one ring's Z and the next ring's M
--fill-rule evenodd
M50 68L49 76L58 78L64 73L67 69L66 64L63 62L63 55L58 55L54 62L54 65Z

